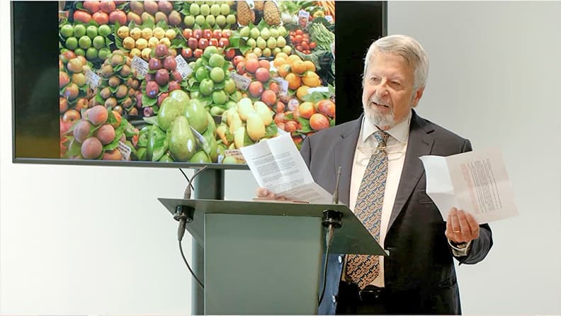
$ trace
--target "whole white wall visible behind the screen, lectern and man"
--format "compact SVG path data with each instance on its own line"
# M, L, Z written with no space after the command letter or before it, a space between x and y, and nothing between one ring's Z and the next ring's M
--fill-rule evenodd
M487 259L458 268L467 315L561 314L559 16L560 2L389 4L390 33L413 35L431 58L419 113L476 149L501 148L516 194L520 215L492 223ZM0 32L9 43L9 28ZM9 54L0 62L0 314L188 314L176 222L156 201L182 196L181 173L12 164ZM247 171L228 171L226 198L251 198L255 186ZM189 260L187 235L183 246Z

